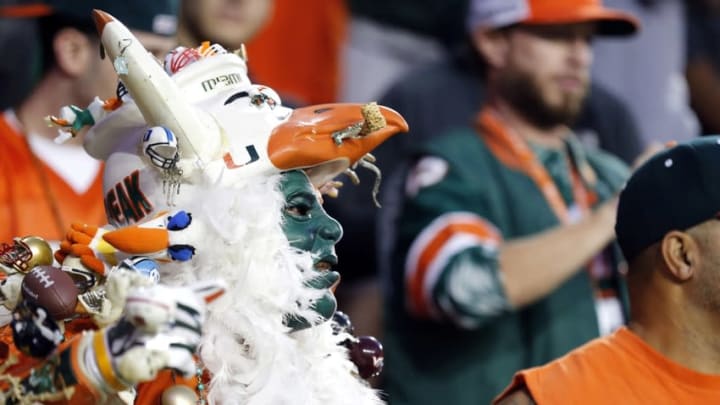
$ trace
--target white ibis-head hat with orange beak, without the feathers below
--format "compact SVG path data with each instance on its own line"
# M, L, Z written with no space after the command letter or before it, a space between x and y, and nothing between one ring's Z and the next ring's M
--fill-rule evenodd
M282 107L274 91L250 83L241 55L204 44L182 56L172 54L165 69L116 18L95 10L93 16L107 57L132 96L119 109L124 121L168 128L177 137L182 172L222 178L305 169L316 186L355 165L390 136L407 131L395 111L361 104L325 104L295 110ZM179 66L179 65L178 65ZM172 75L172 76L170 76ZM135 115L133 115L135 114ZM113 112L88 133L86 148L96 157L117 142ZM104 128L109 130L105 131Z

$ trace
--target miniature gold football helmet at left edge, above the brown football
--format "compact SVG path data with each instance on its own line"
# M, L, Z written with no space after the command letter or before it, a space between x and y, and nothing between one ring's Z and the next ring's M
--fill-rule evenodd
M27 273L35 266L51 265L53 254L50 245L38 236L15 238L13 244L0 245L0 264Z

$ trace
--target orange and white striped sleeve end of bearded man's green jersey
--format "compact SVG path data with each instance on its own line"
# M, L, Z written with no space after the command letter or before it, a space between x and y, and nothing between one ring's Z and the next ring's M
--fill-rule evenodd
M471 212L435 218L414 239L405 260L409 311L464 328L510 309L499 279L500 231Z

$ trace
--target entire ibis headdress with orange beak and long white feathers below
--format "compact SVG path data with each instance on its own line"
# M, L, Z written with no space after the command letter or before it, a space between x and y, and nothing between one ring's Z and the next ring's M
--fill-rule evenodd
M316 310L337 281L328 268L334 248L288 240L283 181L301 171L318 196L332 194L338 174L352 176L358 165L376 170L369 152L407 131L403 118L374 103L289 109L272 89L250 82L242 53L179 47L161 66L120 21L98 10L94 19L120 78L117 99L65 107L50 120L64 127L61 137L91 125L84 145L105 161L111 226L83 239L101 241L93 261L78 260L70 244L56 258L66 271L90 263L103 273L121 264L123 252L160 258L158 248L167 247L163 257L172 260L159 265L161 283L220 278L226 291L208 306L197 375L163 372L136 387L135 403L381 403L350 361L344 343L356 338ZM167 215L176 207L192 213L191 225L189 215ZM168 237L178 217L181 231ZM326 221L333 224L340 229ZM326 238L334 245L339 237ZM184 248L167 254L168 245ZM326 279L332 282L318 282ZM127 305L125 296L113 302L109 287L107 295L103 305ZM90 313L104 311L105 322L119 316L81 302Z

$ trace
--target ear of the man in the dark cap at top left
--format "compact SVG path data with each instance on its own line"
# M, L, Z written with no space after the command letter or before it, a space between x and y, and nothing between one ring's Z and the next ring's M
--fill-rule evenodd
M57 68L71 77L82 76L97 57L92 41L81 31L66 27L55 34L52 42Z

